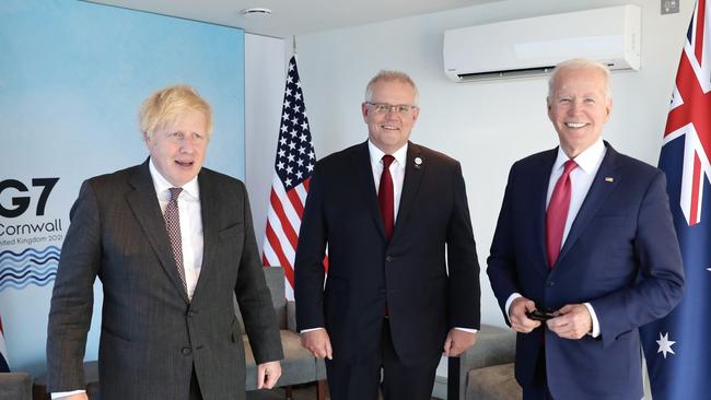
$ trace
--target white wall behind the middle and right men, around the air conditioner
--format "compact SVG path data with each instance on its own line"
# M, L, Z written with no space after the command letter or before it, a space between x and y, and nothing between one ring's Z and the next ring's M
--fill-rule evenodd
M681 1L681 12L672 15L660 15L658 0L511 0L296 38L319 158L365 140L360 103L365 84L378 70L403 70L417 82L421 113L411 139L463 164L482 269L485 323L504 325L485 270L509 167L523 156L555 146L557 137L546 116L545 79L452 83L443 73L443 32L623 3L642 7L642 69L613 74L614 110L604 137L617 150L655 164L691 0ZM252 149L249 143L247 149ZM270 176L250 176L248 167L247 177L267 181ZM253 207L256 214L259 205Z

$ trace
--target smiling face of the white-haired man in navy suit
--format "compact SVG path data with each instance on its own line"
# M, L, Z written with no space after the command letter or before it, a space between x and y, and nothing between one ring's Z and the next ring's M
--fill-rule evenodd
M548 118L571 158L597 141L609 119L613 101L605 79L603 71L594 68L568 68L555 77L547 99Z

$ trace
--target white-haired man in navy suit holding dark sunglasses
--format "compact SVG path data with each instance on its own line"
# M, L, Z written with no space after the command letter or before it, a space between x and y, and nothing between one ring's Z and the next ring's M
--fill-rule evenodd
M681 299L664 174L603 140L607 67L573 59L549 81L560 145L511 167L488 259L517 332L525 400L641 399L638 328Z

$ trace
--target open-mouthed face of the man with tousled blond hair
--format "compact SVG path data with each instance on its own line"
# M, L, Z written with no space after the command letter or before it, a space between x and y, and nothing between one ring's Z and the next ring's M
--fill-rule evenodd
M143 138L161 175L171 185L182 187L202 167L208 146L207 118L202 111L187 109Z

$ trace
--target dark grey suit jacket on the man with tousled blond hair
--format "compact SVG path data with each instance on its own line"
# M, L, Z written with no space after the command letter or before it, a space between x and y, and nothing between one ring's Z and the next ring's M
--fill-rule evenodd
M207 168L198 183L205 247L188 302L148 161L84 181L51 298L49 390L84 387L96 277L104 290L98 353L104 400L187 399L194 366L205 399L244 399L244 346L233 294L257 363L282 358L245 187Z

